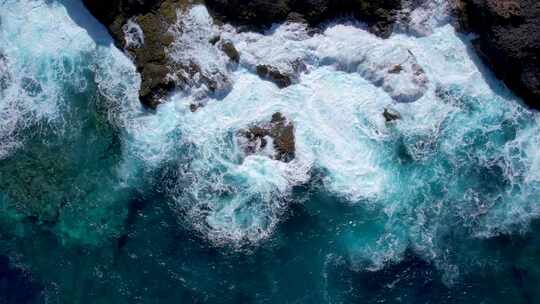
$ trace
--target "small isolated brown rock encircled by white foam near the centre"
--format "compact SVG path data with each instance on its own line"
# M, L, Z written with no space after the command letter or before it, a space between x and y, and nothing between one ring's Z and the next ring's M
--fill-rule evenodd
M275 150L274 159L290 162L295 157L294 126L279 112L272 115L269 123L241 130L238 135L239 143L248 155L264 150L268 139L271 139Z

